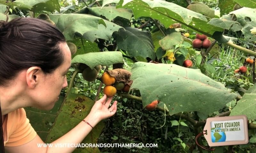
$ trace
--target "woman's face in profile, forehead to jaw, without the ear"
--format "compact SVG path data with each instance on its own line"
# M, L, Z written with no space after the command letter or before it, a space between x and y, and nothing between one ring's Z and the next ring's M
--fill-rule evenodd
M52 74L47 74L39 81L36 87L35 107L50 110L58 101L60 91L68 86L66 74L71 64L71 52L67 43L61 43L60 48L64 55L64 62Z

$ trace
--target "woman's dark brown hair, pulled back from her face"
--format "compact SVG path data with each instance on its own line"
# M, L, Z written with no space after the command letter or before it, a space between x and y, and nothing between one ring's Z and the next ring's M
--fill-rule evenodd
M60 30L38 18L0 21L0 86L7 86L21 70L39 66L51 74L64 61Z

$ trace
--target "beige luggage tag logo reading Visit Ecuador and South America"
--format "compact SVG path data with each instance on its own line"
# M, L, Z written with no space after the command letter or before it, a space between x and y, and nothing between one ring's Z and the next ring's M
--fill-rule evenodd
M247 144L247 126L245 115L207 118L204 137L210 147Z

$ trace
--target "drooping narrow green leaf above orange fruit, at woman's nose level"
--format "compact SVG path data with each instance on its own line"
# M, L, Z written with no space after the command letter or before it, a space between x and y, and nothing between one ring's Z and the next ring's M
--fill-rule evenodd
M97 65L110 66L116 63L123 63L123 54L118 51L107 51L76 55L71 61L71 64L74 63L84 63L91 69Z

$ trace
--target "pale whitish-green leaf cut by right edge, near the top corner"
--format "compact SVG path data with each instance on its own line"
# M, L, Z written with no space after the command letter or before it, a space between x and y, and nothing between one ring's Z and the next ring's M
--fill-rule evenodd
M256 27L255 9L243 7L236 11L232 11L231 13L236 15L237 22L239 22L243 26L243 29L241 31L244 34L244 39L255 41L256 38L250 31L253 27Z

